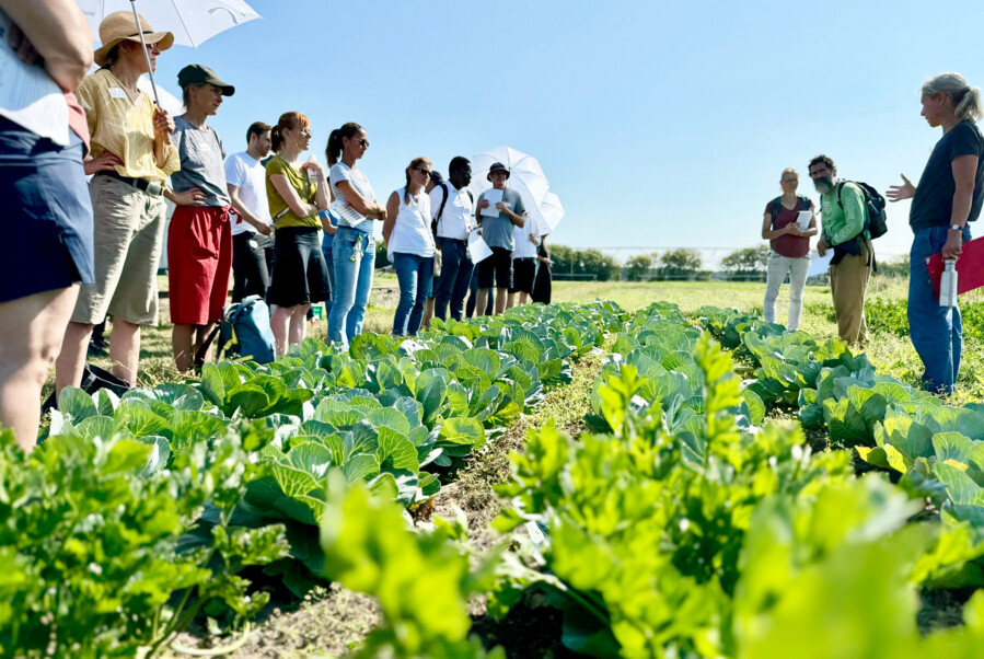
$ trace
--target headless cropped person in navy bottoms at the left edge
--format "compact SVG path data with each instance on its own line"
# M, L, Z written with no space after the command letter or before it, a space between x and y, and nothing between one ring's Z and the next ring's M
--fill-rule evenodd
M91 48L72 0L0 0L3 80L35 82L18 90L26 104L0 101L0 427L12 428L27 451L76 284L93 278L82 167L89 130L73 95L92 66Z

